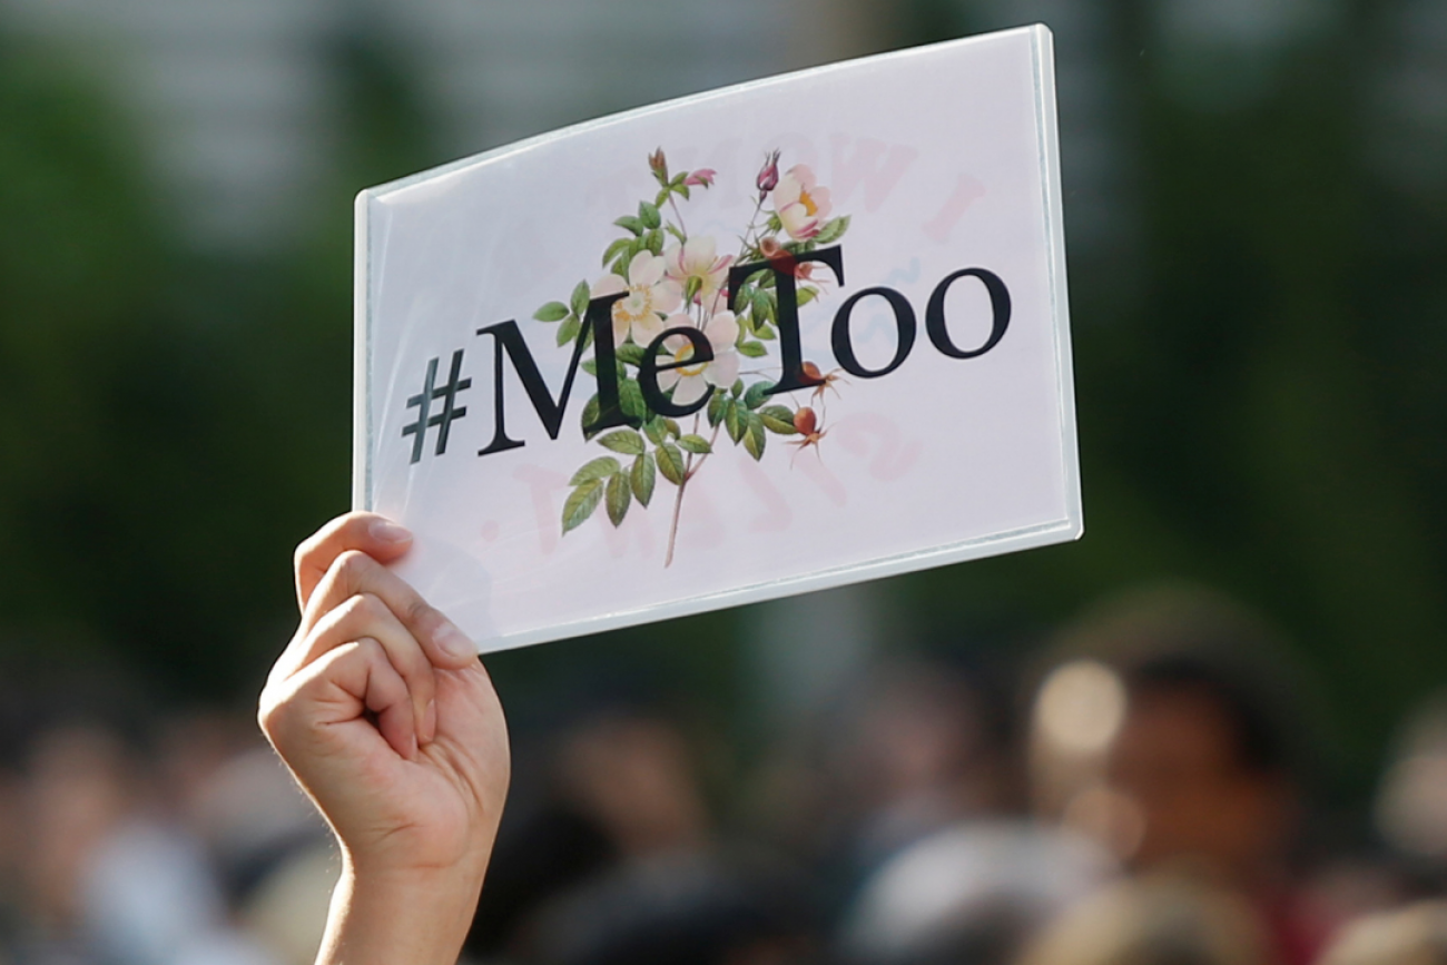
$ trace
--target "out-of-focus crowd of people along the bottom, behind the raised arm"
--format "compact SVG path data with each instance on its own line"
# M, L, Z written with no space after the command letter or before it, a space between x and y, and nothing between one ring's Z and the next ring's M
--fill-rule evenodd
M311 961L337 858L249 713L23 679L0 694L0 965ZM1447 962L1447 703L1404 709L1341 819L1310 690L1257 618L1176 587L1004 671L875 661L728 767L667 700L560 700L514 720L464 962Z

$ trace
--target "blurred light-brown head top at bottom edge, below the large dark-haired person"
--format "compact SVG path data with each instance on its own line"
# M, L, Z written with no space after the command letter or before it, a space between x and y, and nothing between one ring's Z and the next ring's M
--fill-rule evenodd
M1231 891L1152 874L1082 900L1019 965L1268 965L1263 938Z

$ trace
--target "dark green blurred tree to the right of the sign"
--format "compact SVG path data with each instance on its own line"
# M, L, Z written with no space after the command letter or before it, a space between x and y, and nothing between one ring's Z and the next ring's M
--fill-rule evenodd
M928 6L951 6L959 30L1009 25L980 16L998 4ZM1447 679L1433 498L1447 490L1447 273L1428 269L1447 250L1444 197L1408 207L1365 165L1372 69L1405 4L1334 4L1330 29L1270 51L1166 45L1168 6L1092 4L1129 78L1145 243L1111 265L1072 246L1088 535L906 592L968 624L1062 619L1162 576L1226 589L1323 674L1347 738L1334 757L1369 780L1406 703ZM1204 90L1240 80L1247 56L1249 95ZM1123 310L1117 286L1143 295Z

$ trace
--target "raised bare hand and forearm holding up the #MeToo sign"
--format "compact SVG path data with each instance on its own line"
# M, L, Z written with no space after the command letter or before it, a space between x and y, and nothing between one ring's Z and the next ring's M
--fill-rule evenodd
M262 731L341 848L318 965L453 965L508 791L472 641L385 567L410 547L360 512L302 543L301 622L260 696Z

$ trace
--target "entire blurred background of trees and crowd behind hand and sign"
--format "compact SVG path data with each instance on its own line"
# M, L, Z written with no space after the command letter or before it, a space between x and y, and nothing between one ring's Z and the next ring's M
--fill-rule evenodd
M0 0L0 964L314 952L357 190L1037 20L1087 538L489 658L467 959L1447 961L1447 3Z

